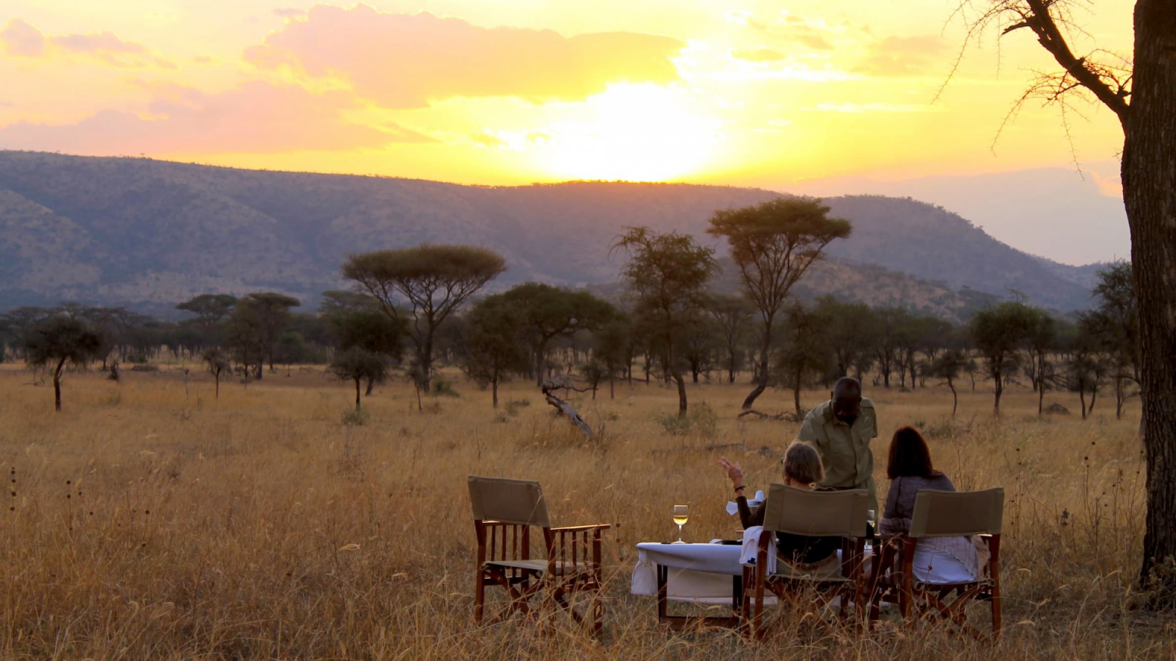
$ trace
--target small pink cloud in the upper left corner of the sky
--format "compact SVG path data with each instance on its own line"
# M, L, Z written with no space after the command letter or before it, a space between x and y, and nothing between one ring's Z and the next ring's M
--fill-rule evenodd
M33 25L12 19L8 27L0 32L0 44L9 55L20 58L41 58L56 48L68 54L89 55L116 67L156 65L175 68L172 62L152 55L146 46L123 41L109 31L46 38Z

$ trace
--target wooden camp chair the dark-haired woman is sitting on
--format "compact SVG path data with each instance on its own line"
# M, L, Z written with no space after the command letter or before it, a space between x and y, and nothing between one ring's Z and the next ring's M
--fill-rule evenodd
M880 546L882 555L871 572L873 590L870 619L877 617L876 602L884 594L897 593L898 608L908 627L915 625L911 612L930 613L958 625L980 639L978 629L968 623L964 609L973 600L991 603L993 637L1001 633L1001 522L1004 514L1004 489L982 492L938 492L923 489L915 495L915 510L910 533ZM980 535L990 554L984 572L975 581L930 583L920 581L914 573L915 549L920 540ZM895 565L900 565L894 576ZM884 574L891 576L886 581ZM881 585L880 585L881 580ZM889 586L887 585L889 583ZM947 599L955 593L955 599Z

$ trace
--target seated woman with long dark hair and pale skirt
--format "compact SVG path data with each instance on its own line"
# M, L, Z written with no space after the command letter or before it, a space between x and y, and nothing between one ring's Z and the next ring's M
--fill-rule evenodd
M915 495L921 489L954 492L955 485L931 466L931 452L918 429L901 427L890 439L887 462L890 492L878 522L883 535L910 532ZM982 545L981 545L982 546ZM927 538L915 546L915 577L931 583L973 581L980 570L980 548L971 538Z

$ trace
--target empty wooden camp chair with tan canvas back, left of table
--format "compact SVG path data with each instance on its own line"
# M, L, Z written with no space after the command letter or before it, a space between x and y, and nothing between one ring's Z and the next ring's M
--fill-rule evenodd
M474 620L482 621L487 583L501 586L510 597L507 610L523 615L541 603L555 602L580 623L584 615L568 601L575 593L590 596L588 616L593 630L603 625L600 603L601 533L608 523L553 528L539 482L502 478L469 476L469 500L477 534ZM530 529L543 535L543 556L530 556Z

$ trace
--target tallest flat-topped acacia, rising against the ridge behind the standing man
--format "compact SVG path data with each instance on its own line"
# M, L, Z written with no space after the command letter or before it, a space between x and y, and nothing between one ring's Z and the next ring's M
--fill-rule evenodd
M848 220L828 218L829 207L817 199L776 198L740 209L717 211L708 234L722 236L731 248L740 281L760 313L759 379L743 400L749 409L768 387L768 354L773 323L793 285L834 239L853 232Z

